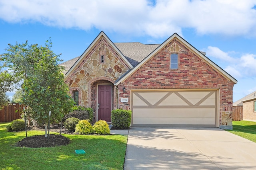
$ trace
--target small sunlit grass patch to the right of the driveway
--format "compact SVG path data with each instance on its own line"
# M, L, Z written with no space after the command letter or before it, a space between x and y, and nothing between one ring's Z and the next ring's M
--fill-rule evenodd
M233 121L233 130L228 130L240 137L256 143L256 122L253 121Z

